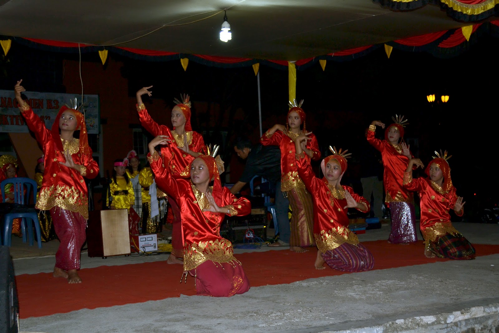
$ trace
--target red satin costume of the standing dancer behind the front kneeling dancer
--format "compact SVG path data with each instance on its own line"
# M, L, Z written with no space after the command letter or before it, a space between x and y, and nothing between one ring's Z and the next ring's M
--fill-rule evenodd
M185 136L187 137L186 141L189 145L189 149L196 153L206 154L207 150L205 141L203 140L203 136L198 132L192 130L190 106L184 103L179 103L176 106L180 107L182 113L184 114L184 117L186 118L186 124L184 128L186 130ZM186 167L194 160L194 156L187 154L178 148L184 146L184 135L178 135L175 131L174 133L172 133L168 126L159 125L157 122L155 122L147 112L144 104L137 105L137 111L139 111L140 123L149 133L154 136L167 135L170 139L172 139L172 142L170 142L170 144L161 147L161 157L165 163L165 167L170 169L169 172L171 172L174 178L184 177L186 172L189 172L189 170L186 170ZM173 129L175 130L175 127ZM163 192L167 193L167 191L165 191L165 189L162 189L161 186L160 189ZM173 216L172 254L177 258L182 258L183 252L181 243L182 236L180 229L180 211L178 209L177 203L172 201L173 200L170 200L170 206L172 207L172 209L168 212L169 217ZM173 215L170 215L172 213Z

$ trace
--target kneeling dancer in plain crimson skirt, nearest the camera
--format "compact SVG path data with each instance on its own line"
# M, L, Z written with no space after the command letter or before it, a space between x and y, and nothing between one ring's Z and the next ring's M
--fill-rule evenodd
M155 150L167 144L166 135L159 135L149 143L147 159L160 188L177 202L182 216L184 242L184 273L196 278L197 295L228 297L246 293L250 282L243 267L234 258L230 241L220 236L220 225L226 215L250 214L251 204L246 198L236 198L220 183L224 162L209 155L199 155L189 163L190 180L176 179L171 170L163 167L163 159ZM213 181L213 186L209 186Z

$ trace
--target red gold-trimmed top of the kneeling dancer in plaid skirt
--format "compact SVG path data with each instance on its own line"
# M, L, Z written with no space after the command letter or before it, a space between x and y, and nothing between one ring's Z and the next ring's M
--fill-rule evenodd
M446 232L455 234L456 229L451 224L449 210L454 209L458 196L456 188L445 192L440 186L430 179L412 178L411 172L404 172L404 188L409 191L418 192L421 207L420 229L425 240L435 241L437 236L443 236ZM464 210L456 215L462 216Z

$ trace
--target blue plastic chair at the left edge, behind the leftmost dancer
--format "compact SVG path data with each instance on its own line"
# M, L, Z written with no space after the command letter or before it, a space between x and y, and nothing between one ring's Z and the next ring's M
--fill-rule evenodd
M5 202L5 185L12 184L14 187L14 203L17 205L7 214L3 216L3 245L10 246L12 239L12 221L16 218L21 218L21 231L22 231L22 241L26 242L26 232L29 237L29 246L33 246L33 228L36 230L36 238L38 241L38 248L41 249L41 231L40 231L40 221L38 221L38 214L31 207L29 203L29 195L33 195L33 204L36 204L36 182L32 179L25 177L12 177L3 180L0 183L1 196L3 202ZM24 192L25 191L25 192ZM28 223L28 219L31 221Z

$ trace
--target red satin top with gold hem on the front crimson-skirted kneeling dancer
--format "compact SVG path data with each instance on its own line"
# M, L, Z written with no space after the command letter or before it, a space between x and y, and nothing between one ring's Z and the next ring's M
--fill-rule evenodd
M182 242L184 244L184 271L195 269L207 260L227 263L234 260L232 243L220 236L220 225L225 215L243 216L251 213L250 201L237 198L227 187L222 187L221 206L230 206L229 213L204 212L210 205L190 179L176 179L169 169L163 167L158 154L148 154L151 169L156 175L156 184L164 188L179 205L182 219ZM212 187L213 190L213 187ZM213 193L214 197L217 193ZM218 194L220 195L220 194ZM219 200L219 198L215 198Z

